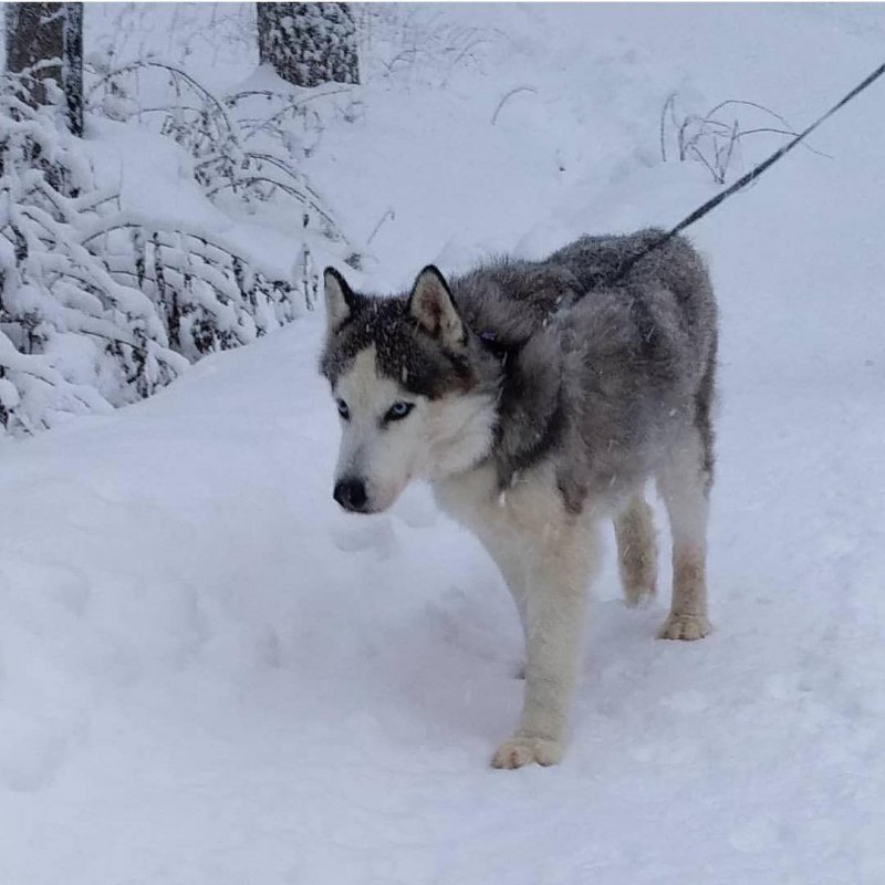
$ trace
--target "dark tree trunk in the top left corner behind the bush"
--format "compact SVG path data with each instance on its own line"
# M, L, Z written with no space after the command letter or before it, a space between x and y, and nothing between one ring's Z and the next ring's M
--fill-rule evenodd
M6 31L7 70L29 73L31 103L48 104L46 81L54 80L64 93L67 126L82 135L83 4L10 3Z

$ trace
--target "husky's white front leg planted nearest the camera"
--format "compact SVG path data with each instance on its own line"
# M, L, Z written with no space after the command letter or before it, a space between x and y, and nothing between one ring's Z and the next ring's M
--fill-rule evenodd
M528 660L519 728L492 758L496 768L562 759L574 699L594 544L587 531L564 528L531 542L525 606Z

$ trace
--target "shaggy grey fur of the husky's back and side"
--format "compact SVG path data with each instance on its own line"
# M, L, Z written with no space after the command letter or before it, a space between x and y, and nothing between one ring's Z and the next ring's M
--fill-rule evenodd
M503 480L552 458L571 507L617 500L690 424L709 482L716 303L704 262L677 237L610 282L660 235L583 237L543 261L501 260L452 280L468 324L512 351ZM527 446L539 435L543 447Z

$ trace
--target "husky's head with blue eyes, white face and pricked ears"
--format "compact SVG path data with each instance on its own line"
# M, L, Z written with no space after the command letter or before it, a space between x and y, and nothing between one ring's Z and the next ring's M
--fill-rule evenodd
M341 416L334 498L345 510L377 513L409 480L451 476L485 457L494 397L436 268L397 298L358 294L332 268L324 281L321 371Z

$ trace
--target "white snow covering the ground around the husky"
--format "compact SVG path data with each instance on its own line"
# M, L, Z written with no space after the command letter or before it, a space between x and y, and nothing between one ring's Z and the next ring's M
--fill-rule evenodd
M308 164L354 236L394 211L366 287L674 222L715 185L659 162L668 93L800 126L885 55L873 7L438 14L488 38L478 62L378 79ZM885 882L883 103L693 231L722 313L717 631L655 642L666 596L627 611L608 562L556 768L488 768L521 649L478 544L420 488L333 503L321 316L6 440L0 882Z

